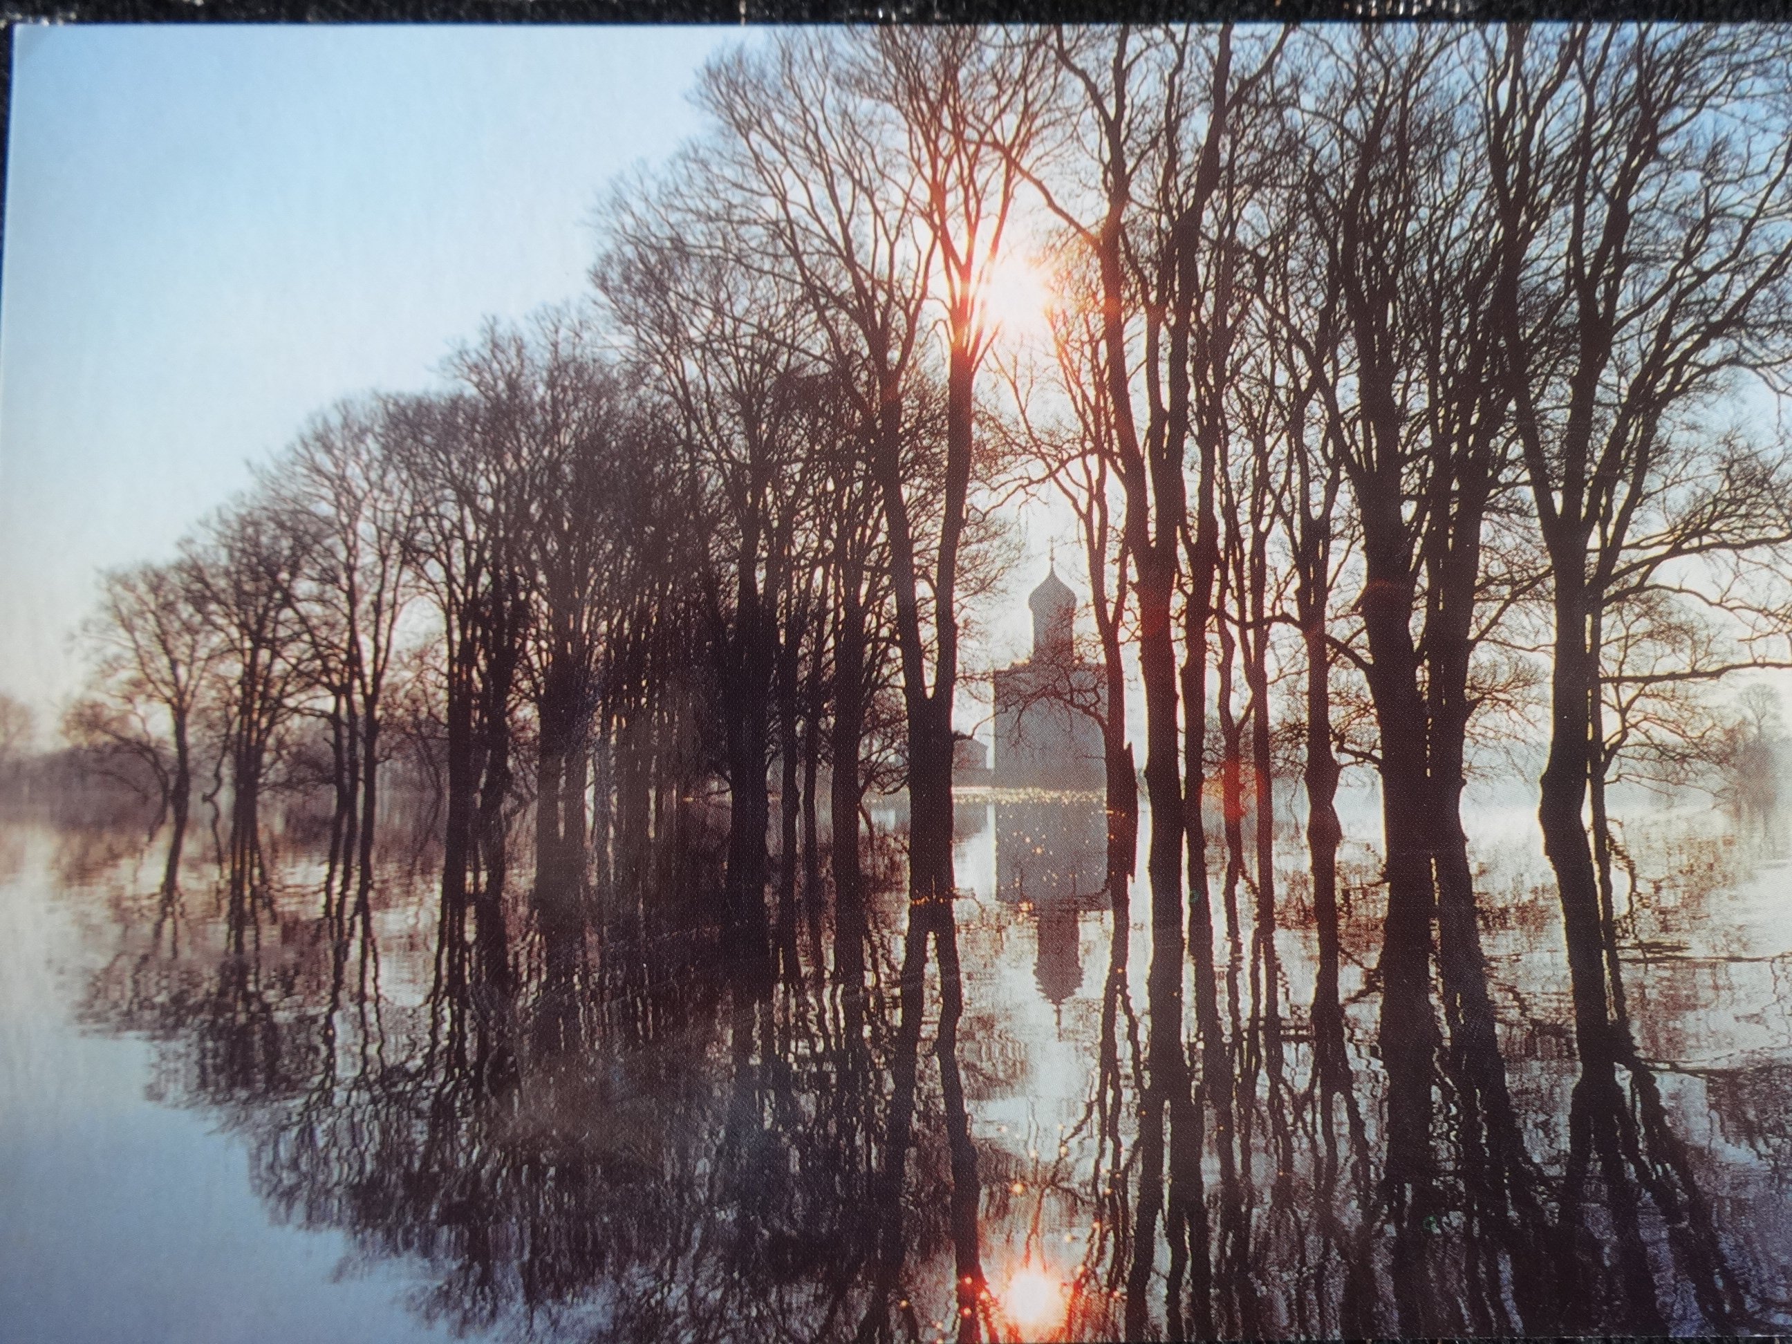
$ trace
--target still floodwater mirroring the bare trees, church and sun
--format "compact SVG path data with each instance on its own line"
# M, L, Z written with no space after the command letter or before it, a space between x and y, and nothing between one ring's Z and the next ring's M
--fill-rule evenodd
M887 837L862 952L799 891L749 995L692 932L701 866L599 892L572 941L513 874L491 961L401 830L353 874L274 828L233 882L202 826L170 880L167 828L9 824L0 1337L1792 1330L1785 819L1633 810L1634 1048L1582 1064L1529 808L1469 808L1491 1030L1439 995L1400 1147L1367 844L1326 975L1294 824L1272 930L1215 842L1208 959L1106 891L1097 799L957 814L957 973L907 1020Z

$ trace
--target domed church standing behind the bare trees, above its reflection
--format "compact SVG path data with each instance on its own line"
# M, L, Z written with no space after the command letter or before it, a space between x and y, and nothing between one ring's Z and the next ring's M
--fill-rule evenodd
M1077 658L1077 595L1057 577L1027 597L1032 656L995 674L995 769L1002 788L1093 790L1106 781L1102 668Z

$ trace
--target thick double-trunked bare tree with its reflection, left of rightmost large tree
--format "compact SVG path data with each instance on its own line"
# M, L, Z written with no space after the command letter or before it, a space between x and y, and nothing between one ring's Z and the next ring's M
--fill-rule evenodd
M1457 1081L1486 1113L1509 1176L1502 1197L1525 1190L1527 1170L1493 1036L1460 819L1477 649L1511 590L1523 588L1487 550L1489 520L1512 484L1495 321L1495 258L1507 238L1482 185L1477 70L1462 34L1364 30L1339 57L1330 68L1340 82L1324 84L1308 111L1315 156L1305 186L1326 258L1317 310L1337 314L1344 342L1344 380L1321 383L1328 453L1349 484L1362 556L1366 652L1333 647L1362 672L1378 729L1387 1190L1400 1229L1400 1319L1425 1330L1430 1305L1407 1256L1435 1179L1434 950L1453 1043L1468 1061Z

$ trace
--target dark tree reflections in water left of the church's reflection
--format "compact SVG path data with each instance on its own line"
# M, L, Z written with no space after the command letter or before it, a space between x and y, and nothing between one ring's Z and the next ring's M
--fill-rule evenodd
M518 939L514 980L482 978L477 950L444 953L432 977L426 948L421 966L382 959L391 876L360 871L323 914L249 869L224 874L215 905L158 892L122 910L127 952L90 1012L165 1041L158 1090L224 1111L278 1217L344 1231L362 1262L421 1262L425 1317L823 1339L891 1308L909 1337L896 1303L919 1299L948 1247L975 1256L950 1014L935 1088L916 1070L919 1014L912 1032L894 1021L876 941L857 995L817 1000L794 978L737 996L688 910L643 901L595 930L600 955L582 937L579 953L552 950L543 930ZM962 1011L950 955L946 969ZM901 1256L885 1294L873 1267L894 1251L891 1177Z

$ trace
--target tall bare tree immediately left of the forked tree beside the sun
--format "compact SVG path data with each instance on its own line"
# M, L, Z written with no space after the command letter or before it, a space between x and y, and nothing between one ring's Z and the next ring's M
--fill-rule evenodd
M826 387L853 421L824 453L824 471L837 607L830 812L837 916L846 921L837 973L857 987L866 715L882 685L878 650L894 575L889 495L871 462L894 459L907 477L930 452L918 414L930 355L930 254L918 246L919 202L882 167L898 149L894 129L867 108L846 56L833 36L780 39L765 57L742 52L711 65L702 102L724 133L711 167L726 199L758 235L758 265L796 281ZM916 504L926 511L919 491Z

